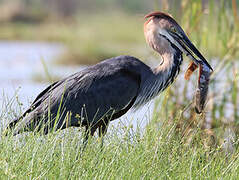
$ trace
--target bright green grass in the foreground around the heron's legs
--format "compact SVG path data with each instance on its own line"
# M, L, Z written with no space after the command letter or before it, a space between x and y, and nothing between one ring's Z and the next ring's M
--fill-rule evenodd
M188 141L176 121L155 116L145 132L120 130L121 134L113 128L106 135L103 149L96 137L91 138L84 152L81 136L73 129L47 136L2 137L0 178L237 179L239 175L238 148L227 155L223 146L205 146L200 128Z

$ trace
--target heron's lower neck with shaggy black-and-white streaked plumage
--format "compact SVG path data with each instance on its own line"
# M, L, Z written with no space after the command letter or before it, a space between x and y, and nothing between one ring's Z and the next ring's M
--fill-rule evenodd
M171 46L174 53L162 55L163 63L152 69L151 76L142 82L134 107L137 108L149 102L172 84L177 77L183 60L182 52L173 44Z

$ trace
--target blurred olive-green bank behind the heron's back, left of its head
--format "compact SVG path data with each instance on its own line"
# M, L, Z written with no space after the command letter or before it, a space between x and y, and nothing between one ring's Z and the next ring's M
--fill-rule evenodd
M59 42L66 51L56 63L95 64L121 54L146 54L143 17L126 14L79 15L71 21L41 24L4 23L0 39Z

